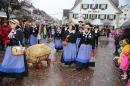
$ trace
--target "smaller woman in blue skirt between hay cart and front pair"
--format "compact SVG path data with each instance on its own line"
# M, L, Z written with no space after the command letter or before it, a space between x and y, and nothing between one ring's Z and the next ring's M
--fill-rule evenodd
M57 52L62 50L62 42L61 42L61 28L57 26L57 30L55 31L55 49Z

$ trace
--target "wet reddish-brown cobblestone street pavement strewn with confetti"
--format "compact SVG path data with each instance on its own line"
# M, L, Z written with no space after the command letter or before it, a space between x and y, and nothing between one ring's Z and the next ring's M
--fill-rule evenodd
M45 40L41 41L45 42ZM96 49L96 67L76 71L74 67L66 68L60 63L61 52L56 53L54 42L46 43L52 48L48 66L43 61L42 69L36 67L29 69L29 77L22 82L5 78L3 86L124 86L117 69L113 64L114 41L112 38L102 37L99 47ZM4 52L0 52L0 62ZM13 84L14 83L14 84Z

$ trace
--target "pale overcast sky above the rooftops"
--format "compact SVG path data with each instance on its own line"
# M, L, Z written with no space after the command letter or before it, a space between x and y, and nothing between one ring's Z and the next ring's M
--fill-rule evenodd
M75 0L33 0L33 4L36 8L44 10L48 14L58 19L62 19L63 9L71 9L74 5ZM120 0L120 6L129 4L130 0ZM59 13L56 15L56 13Z

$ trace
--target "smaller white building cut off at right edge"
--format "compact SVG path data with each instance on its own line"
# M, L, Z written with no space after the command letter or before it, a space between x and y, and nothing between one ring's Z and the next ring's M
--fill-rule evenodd
M119 26L121 26L123 23L130 20L130 6L127 4L119 7L119 9L123 12L120 15L120 20L119 20Z

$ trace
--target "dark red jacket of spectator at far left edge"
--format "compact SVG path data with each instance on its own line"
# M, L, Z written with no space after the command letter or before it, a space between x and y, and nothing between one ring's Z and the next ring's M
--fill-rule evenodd
M4 40L8 39L8 35L11 31L11 28L9 26L2 25L1 31L2 31L2 40L4 41Z

